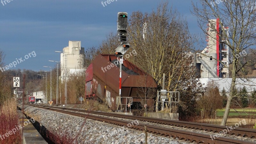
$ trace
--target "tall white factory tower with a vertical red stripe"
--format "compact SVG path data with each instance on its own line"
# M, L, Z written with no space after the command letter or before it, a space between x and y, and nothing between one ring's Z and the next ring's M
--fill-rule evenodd
M196 67L200 70L200 77L228 77L228 46L224 42L228 39L228 27L220 27L220 20L209 20L207 24L207 46L201 53L196 54ZM224 68L223 64L227 66Z

